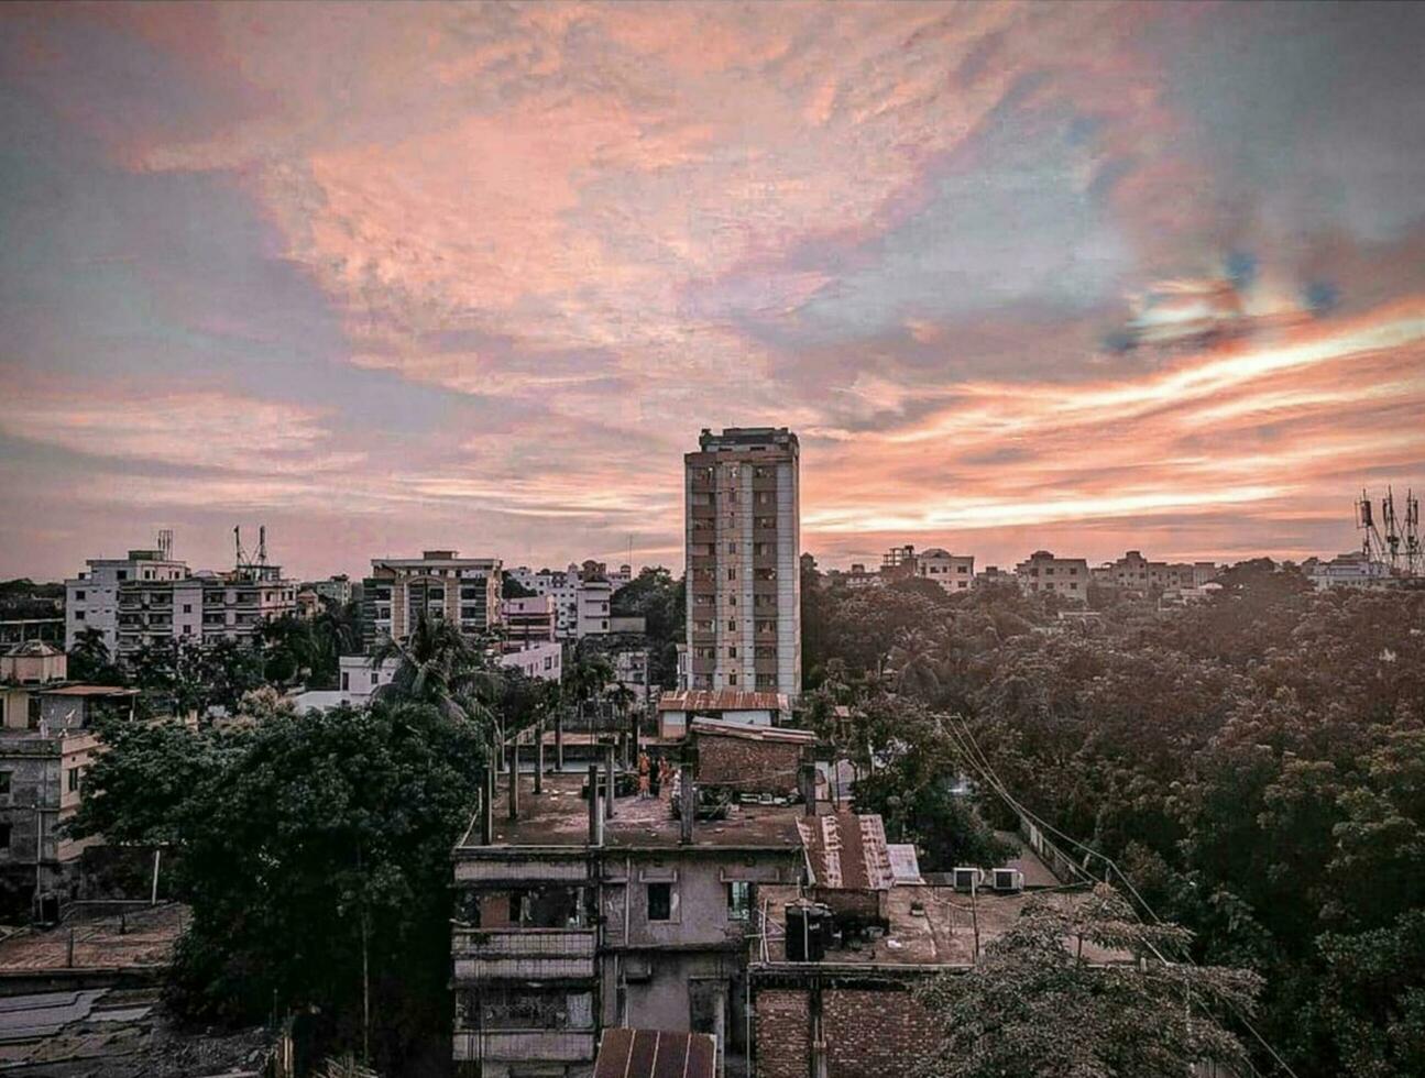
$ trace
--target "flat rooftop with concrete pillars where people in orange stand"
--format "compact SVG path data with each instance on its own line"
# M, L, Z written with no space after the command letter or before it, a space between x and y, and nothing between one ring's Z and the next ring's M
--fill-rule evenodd
M544 792L534 793L534 776L520 775L520 817L509 817L509 773L499 776L494 803L494 846L583 846L589 842L589 802L580 792L586 775L547 775ZM698 820L693 844L700 847L799 849L799 805L732 805L722 820ZM627 849L678 846L680 822L673 815L668 786L658 797L616 797L614 817L604 820L604 844ZM480 846L479 817L460 847Z

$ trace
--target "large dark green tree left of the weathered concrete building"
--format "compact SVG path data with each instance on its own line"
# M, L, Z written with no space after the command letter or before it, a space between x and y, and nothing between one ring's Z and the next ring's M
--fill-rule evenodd
M473 809L483 731L378 701L104 738L71 829L178 852L175 889L192 909L172 970L185 1014L315 1010L325 1041L369 1040L390 1072L446 1032L449 854Z

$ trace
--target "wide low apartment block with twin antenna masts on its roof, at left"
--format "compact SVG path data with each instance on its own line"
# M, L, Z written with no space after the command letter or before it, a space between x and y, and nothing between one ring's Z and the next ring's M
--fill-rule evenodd
M279 565L241 564L227 572L128 580L118 588L121 659L165 644L251 641L269 621L296 612L296 581Z

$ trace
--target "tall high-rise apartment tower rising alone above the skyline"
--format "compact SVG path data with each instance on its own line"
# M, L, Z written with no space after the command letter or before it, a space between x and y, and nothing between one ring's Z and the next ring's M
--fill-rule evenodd
M683 459L690 689L801 694L799 456L787 427L728 427Z

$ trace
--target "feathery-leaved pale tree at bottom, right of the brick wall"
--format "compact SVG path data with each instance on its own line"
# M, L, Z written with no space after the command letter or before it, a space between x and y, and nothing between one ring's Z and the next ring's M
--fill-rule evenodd
M919 993L942 1032L916 1074L1183 1078L1193 1061L1245 1067L1223 1012L1250 1012L1261 980L1156 957L1187 940L1177 926L1139 923L1102 884L1084 903L1035 896L970 971Z

